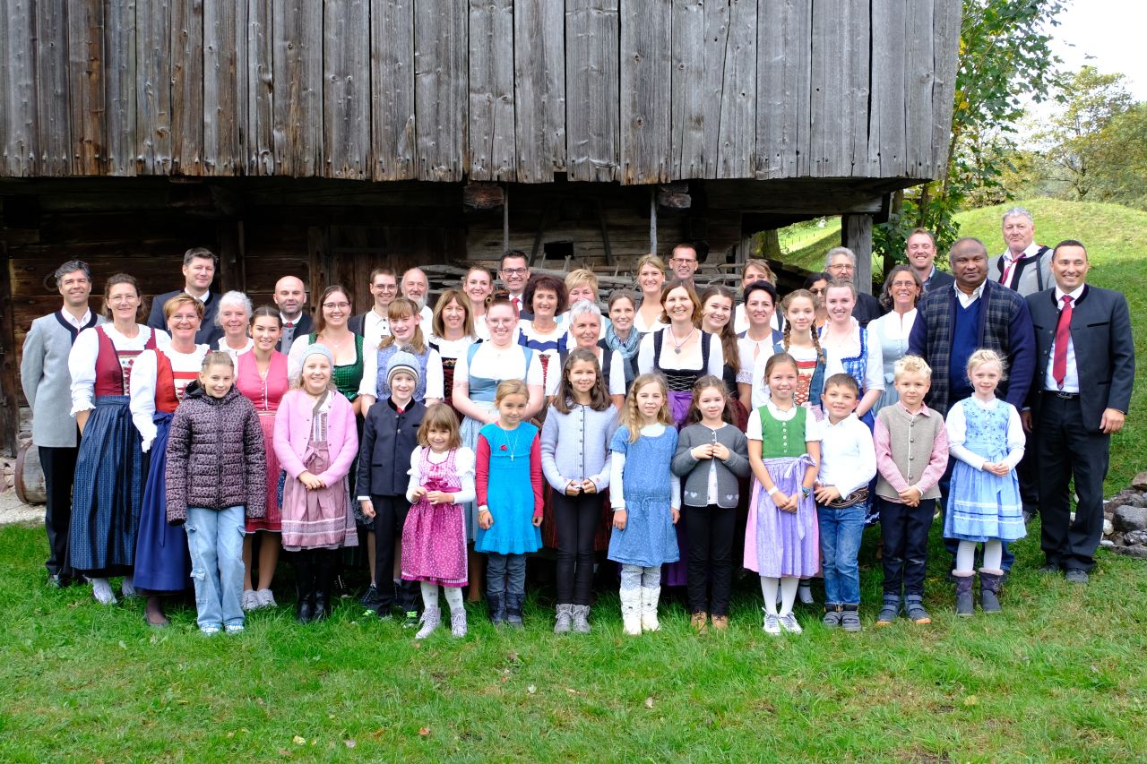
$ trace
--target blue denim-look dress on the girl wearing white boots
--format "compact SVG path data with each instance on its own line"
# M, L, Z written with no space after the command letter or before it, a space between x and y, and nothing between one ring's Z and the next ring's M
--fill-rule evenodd
M609 559L642 568L677 562L680 553L670 513L669 469L677 451L677 430L668 426L656 437L642 435L630 443L630 430L622 426L614 432L609 449L625 454L622 485L626 514L625 530L615 528L609 538Z

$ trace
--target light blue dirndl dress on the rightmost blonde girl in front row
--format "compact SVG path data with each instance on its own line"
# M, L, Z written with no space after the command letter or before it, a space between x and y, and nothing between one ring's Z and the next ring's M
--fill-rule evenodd
M963 407L967 422L963 447L988 461L1002 461L1008 454L1007 426L1012 404L997 399L996 406L988 410L965 398L955 405ZM954 461L944 514L944 537L961 541L1014 541L1027 536L1015 470L1000 477L966 461Z

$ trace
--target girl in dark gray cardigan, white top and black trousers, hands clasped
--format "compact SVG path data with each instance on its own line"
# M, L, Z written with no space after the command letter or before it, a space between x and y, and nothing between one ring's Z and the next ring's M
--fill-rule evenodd
M685 480L681 514L689 538L689 621L699 632L707 629L710 617L717 631L728 629L733 535L741 498L738 478L749 474L749 442L733 426L734 416L724 382L716 376L697 380L672 463L673 474Z

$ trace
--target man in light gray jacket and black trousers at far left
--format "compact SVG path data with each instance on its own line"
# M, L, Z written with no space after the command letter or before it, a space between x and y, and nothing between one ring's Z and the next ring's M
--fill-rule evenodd
M55 273L63 307L32 321L24 337L19 381L32 407L32 445L37 446L47 510L44 527L48 533L48 582L68 586L75 571L68 556L68 529L71 524L72 478L79 452L79 430L71 411L71 375L68 356L79 333L103 323L102 315L88 310L92 272L83 260L68 260Z

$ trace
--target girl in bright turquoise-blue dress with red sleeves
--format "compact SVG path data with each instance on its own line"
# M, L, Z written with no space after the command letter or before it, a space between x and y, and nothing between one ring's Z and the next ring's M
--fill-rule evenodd
M498 420L478 431L474 548L489 554L486 601L496 626L522 626L525 556L541 548L541 439L523 421L529 399L522 380L501 382Z

